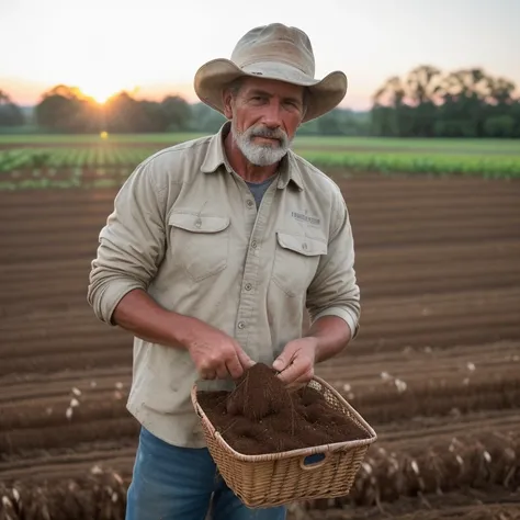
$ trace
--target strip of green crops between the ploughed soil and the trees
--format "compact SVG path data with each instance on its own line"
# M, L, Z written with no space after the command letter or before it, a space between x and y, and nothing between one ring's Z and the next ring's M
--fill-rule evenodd
M0 150L0 190L121 184L157 151L148 147L57 147ZM378 172L520 179L520 155L297 150L327 173ZM89 172L88 180L83 172ZM94 173L94 180L92 180Z

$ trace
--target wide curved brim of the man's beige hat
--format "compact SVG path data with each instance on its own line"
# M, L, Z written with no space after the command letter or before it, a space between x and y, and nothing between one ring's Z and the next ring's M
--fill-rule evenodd
M274 79L306 87L309 95L303 122L330 112L342 101L348 89L347 76L339 70L315 79L286 64L264 61L239 68L229 59L218 58L207 61L196 71L195 93L202 102L224 114L224 88L240 77Z

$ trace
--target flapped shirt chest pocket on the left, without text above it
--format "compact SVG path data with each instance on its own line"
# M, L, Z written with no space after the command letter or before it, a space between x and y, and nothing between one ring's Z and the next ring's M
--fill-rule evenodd
M168 224L173 261L193 281L200 282L227 268L229 217L178 212L170 215Z

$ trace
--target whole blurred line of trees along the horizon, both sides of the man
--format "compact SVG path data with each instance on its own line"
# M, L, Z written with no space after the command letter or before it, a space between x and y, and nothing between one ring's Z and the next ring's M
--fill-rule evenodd
M516 84L483 69L443 72L420 66L392 77L372 97L372 109L336 109L302 125L307 135L386 137L520 137ZM30 120L30 121L27 121ZM33 124L54 133L216 132L224 116L179 95L137 100L122 91L98 103L78 88L58 84L43 93L27 117L0 90L0 127Z

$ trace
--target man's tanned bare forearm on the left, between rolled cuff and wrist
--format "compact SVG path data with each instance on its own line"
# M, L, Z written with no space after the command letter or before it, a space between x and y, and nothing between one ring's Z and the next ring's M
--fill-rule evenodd
M166 310L145 291L136 289L121 299L112 320L145 341L184 349L192 318Z

